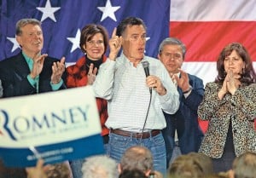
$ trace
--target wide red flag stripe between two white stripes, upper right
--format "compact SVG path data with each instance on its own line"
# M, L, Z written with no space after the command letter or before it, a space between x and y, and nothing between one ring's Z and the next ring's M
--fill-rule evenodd
M170 36L185 43L186 61L216 61L228 43L242 43L256 61L256 21L170 21Z

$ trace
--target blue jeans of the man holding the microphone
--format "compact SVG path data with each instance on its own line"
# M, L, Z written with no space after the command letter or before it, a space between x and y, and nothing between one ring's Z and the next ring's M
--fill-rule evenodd
M145 146L153 155L154 169L166 175L166 146L160 133L147 139L116 135L110 132L108 141L108 155L120 162L125 150L131 146Z

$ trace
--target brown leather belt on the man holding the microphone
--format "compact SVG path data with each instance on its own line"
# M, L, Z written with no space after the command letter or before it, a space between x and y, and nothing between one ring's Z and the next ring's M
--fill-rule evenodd
M147 139L150 136L155 136L160 134L160 129L152 129L150 132L143 132L143 133L136 133L136 132L129 132L122 129L110 129L110 132L116 135L122 136L131 136L133 138L142 138Z

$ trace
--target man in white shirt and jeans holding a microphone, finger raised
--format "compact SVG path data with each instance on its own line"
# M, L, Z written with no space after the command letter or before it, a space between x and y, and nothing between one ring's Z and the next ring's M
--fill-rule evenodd
M108 153L120 161L131 146L146 146L152 152L154 169L166 174L166 147L161 129L162 112L173 114L179 106L178 93L160 60L144 55L146 26L128 17L113 30L108 60L100 66L93 87L97 97L108 100ZM117 57L122 47L122 54ZM143 62L148 62L146 77ZM149 92L152 89L152 93Z

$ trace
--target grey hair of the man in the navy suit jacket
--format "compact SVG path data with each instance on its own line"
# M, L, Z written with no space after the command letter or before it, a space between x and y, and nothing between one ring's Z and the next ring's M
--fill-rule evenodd
M185 55L186 55L186 46L185 44L180 41L179 39L177 39L176 37L166 37L166 39L164 39L161 43L160 43L160 46L159 46L159 49L158 49L158 53L161 54L164 46L166 45L177 45L177 46L180 46L180 48L182 49L183 51L183 60L185 58Z

